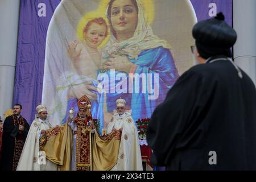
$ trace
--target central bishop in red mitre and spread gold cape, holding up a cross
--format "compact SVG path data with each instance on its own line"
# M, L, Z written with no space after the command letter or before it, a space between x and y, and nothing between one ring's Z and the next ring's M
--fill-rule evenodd
M70 110L64 126L53 127L40 138L40 148L46 158L60 170L107 171L118 160L120 130L101 136L93 124L90 100L85 95L78 102L79 113Z

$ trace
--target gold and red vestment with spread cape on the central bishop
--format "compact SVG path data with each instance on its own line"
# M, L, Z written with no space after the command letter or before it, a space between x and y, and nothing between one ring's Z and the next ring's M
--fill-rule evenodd
M84 127L84 129L89 132L88 128ZM40 150L46 152L46 158L57 164L61 171L71 169L106 171L117 163L120 138L121 132L100 136L97 131L91 138L89 136L81 138L77 132L73 135L71 127L65 123L64 126L56 126L46 131L46 134L40 138ZM92 143L83 142L91 139ZM86 160L89 160L89 163L86 163Z

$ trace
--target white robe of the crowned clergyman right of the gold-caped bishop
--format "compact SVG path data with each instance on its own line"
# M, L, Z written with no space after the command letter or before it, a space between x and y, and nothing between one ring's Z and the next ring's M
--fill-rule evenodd
M131 117L131 110L126 110L119 115L114 110L114 117L106 128L106 134L112 133L113 128L123 128L117 164L112 170L118 171L142 171L141 148L139 147L138 131Z

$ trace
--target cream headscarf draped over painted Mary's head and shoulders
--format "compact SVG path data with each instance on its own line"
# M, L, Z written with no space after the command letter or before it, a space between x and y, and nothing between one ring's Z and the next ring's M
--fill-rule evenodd
M171 49L170 44L166 40L160 39L158 36L154 35L147 21L142 1L136 0L136 2L138 6L138 24L133 37L123 42L118 42L112 34L106 47L102 49L104 57L108 57L111 54L121 54L128 55L130 59L137 59L138 55L147 49L154 49L160 46ZM106 10L107 16L108 7Z

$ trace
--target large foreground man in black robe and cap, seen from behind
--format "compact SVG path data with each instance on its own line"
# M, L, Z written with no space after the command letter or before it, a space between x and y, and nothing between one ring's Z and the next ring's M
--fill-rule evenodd
M256 170L256 90L230 59L236 31L224 15L193 27L201 63L156 107L146 133L151 163L167 170Z

